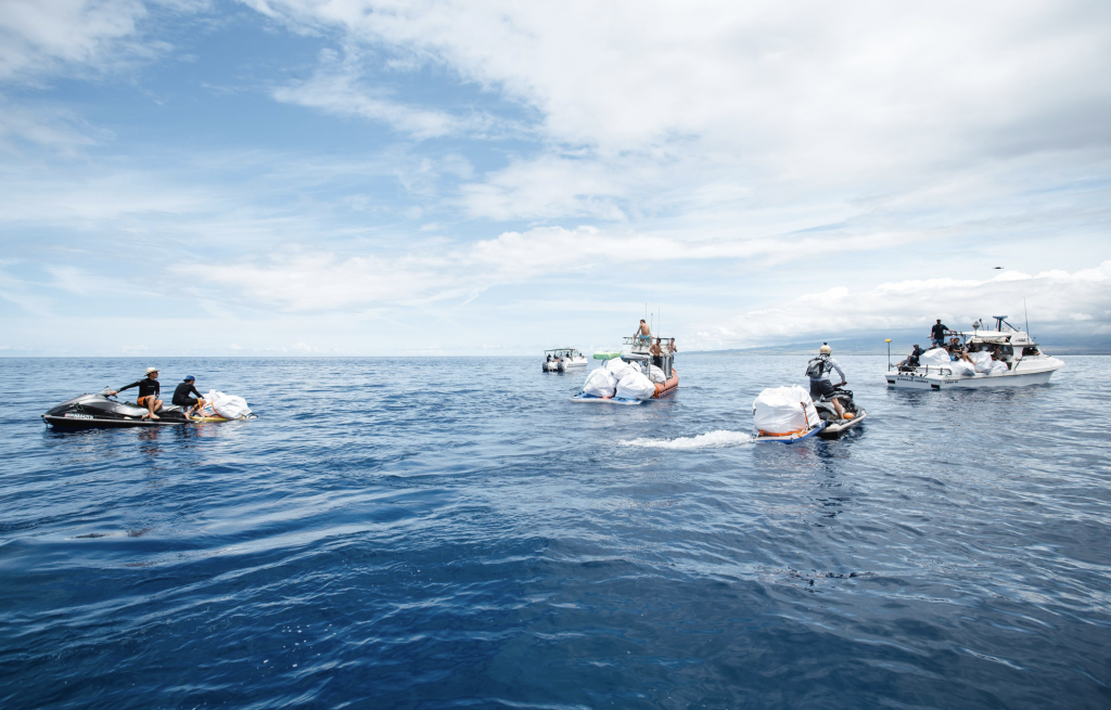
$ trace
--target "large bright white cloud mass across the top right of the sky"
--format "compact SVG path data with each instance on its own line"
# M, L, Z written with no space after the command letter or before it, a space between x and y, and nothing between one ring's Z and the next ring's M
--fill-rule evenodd
M498 87L552 138L603 150L712 136L859 164L861 151L890 163L954 142L1005 150L1000 129L1045 130L1042 148L1108 138L1093 111L1111 98L1098 81L1111 10L1098 2L251 4Z

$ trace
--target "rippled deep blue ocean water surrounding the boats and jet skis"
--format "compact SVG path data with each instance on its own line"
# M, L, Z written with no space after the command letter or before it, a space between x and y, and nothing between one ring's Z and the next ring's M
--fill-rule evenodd
M752 444L804 357L641 407L536 358L160 359L249 422L59 433L0 361L0 706L1108 708L1111 358Z

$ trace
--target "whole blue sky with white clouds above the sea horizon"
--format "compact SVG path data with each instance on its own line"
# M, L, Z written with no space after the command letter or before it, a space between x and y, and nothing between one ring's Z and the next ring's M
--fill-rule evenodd
M0 0L0 354L1111 343L1111 3L920 4Z

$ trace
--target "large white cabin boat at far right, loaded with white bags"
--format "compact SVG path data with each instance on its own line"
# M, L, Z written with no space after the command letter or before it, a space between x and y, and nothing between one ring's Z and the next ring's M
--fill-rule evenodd
M1024 387L1044 385L1053 373L1064 367L1063 361L1043 353L1028 333L1008 323L1005 315L992 317L995 318L994 331L975 329L953 335L972 353L993 351L995 359L1007 365L1005 369L970 372L971 368L957 363L918 367L889 365L888 386L902 389Z

